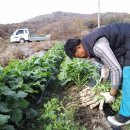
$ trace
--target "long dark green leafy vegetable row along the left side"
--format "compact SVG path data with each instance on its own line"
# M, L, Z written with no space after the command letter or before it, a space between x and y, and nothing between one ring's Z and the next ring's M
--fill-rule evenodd
M57 44L43 57L13 60L7 67L0 67L1 130L22 128L26 119L36 115L32 103L55 80L63 58L63 45Z

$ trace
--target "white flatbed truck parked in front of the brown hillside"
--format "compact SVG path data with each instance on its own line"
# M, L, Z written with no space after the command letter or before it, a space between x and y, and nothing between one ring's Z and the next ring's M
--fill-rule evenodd
M18 42L18 43L24 43L24 42L32 42L32 41L45 41L50 40L51 35L45 35L45 36L36 36L31 35L28 28L25 29L17 29L11 36L10 36L10 42Z

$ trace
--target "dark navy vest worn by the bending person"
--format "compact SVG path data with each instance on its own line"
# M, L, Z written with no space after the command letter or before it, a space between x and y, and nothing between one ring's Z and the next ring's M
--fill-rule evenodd
M93 52L93 46L101 37L107 38L110 48L114 52L121 67L130 66L130 24L108 24L94 29L83 37L81 41L90 58L96 58Z

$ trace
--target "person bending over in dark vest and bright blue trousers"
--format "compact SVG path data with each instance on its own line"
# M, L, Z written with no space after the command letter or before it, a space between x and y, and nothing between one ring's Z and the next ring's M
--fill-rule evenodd
M104 93L105 102L115 100L122 84L119 114L108 116L110 123L122 126L130 123L130 24L111 23L94 29L82 39L68 39L64 50L70 58L96 58L111 73L110 92Z

